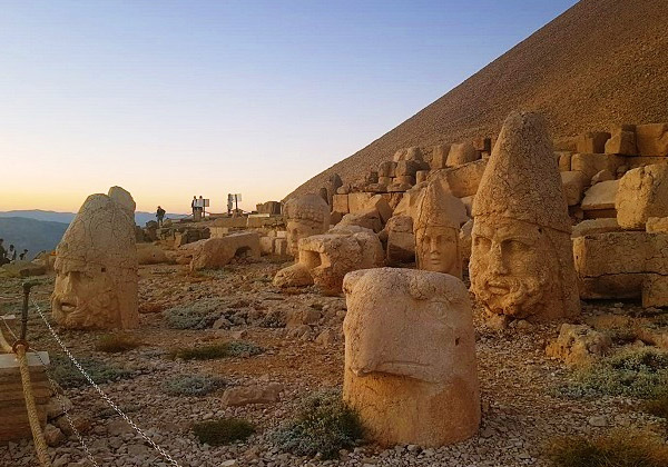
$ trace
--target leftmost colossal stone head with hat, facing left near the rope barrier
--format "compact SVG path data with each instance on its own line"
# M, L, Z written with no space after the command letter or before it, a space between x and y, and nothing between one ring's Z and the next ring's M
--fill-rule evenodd
M138 324L137 248L129 210L134 201L119 190L89 196L56 248L51 310L61 326L111 329Z

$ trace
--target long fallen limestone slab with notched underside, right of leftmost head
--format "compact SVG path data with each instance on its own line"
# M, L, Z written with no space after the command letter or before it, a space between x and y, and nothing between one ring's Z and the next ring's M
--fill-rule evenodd
M233 258L259 258L261 255L259 235L254 231L209 238L191 245L196 245L193 247L191 271L222 268Z

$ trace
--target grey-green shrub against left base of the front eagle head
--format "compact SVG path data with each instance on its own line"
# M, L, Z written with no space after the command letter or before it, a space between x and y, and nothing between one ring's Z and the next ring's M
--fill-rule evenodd
M282 450L297 456L320 454L323 459L333 459L363 436L360 417L341 399L341 393L323 391L306 398L296 418L279 427L272 439Z

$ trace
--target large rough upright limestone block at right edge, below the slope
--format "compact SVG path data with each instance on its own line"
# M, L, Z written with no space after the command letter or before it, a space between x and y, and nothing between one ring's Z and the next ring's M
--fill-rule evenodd
M668 216L668 165L639 167L619 180L617 221L626 229L645 228L650 217Z

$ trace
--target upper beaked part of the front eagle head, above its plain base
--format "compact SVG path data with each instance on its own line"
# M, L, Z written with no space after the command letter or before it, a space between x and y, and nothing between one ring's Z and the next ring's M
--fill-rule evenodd
M475 367L471 305L459 279L379 268L346 275L344 291L345 361L356 377L435 384L452 379L456 368Z

